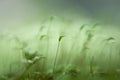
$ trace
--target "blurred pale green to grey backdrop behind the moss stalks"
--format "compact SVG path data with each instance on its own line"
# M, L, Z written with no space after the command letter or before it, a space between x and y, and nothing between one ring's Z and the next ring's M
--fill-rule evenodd
M61 35L65 38L60 43L57 66L67 66L67 59L79 66L83 53L87 53L83 72L89 72L89 62L94 57L96 72L100 68L120 73L119 3L119 0L0 0L0 75L10 71L20 74L23 70L23 55L16 49L21 47L19 40L28 44L28 51L47 56L47 68L51 69ZM89 33L96 23L95 30ZM86 44L88 50L84 49Z

